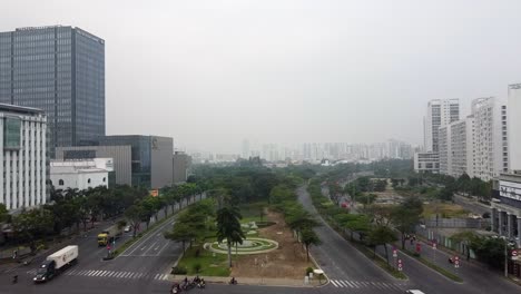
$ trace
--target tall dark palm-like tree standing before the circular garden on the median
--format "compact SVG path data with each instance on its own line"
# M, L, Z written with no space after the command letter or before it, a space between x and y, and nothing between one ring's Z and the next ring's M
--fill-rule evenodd
M243 239L246 238L240 227L240 218L243 216L236 206L225 206L217 210L217 241L220 243L226 239L229 267L232 267L232 244L243 244Z

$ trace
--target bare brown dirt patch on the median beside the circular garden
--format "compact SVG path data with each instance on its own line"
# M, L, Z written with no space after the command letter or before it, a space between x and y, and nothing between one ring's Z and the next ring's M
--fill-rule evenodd
M266 254L253 254L235 257L232 276L235 277L276 277L304 278L306 267L306 252L293 237L286 227L284 217L274 212L267 212L268 220L275 225L258 229L259 236L278 242L278 248ZM281 234L282 233L282 234Z

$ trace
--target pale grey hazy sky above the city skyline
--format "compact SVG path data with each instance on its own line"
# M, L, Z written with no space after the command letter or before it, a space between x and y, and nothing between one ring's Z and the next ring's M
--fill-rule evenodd
M107 134L190 149L422 143L426 101L521 82L521 1L0 0L0 30L106 41Z

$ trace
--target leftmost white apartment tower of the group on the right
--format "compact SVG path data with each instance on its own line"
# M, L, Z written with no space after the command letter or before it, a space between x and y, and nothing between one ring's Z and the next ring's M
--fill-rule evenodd
M424 120L425 151L438 153L439 129L460 119L459 99L435 99L427 104L427 115Z

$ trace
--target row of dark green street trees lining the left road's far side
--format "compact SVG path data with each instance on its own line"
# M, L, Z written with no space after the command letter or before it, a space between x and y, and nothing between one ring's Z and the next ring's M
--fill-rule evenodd
M38 244L45 239L60 235L63 229L68 234L76 229L87 231L94 223L107 217L125 215L132 225L134 236L139 229L140 222L147 227L151 216L183 199L194 200L200 194L204 185L194 183L161 189L159 197L149 196L149 192L140 187L116 186L114 188L96 187L85 190L68 188L52 189L51 202L32 209L23 209L19 214L9 215L0 208L0 222L7 222L12 227L9 235L10 244L28 244L35 252ZM4 207L3 207L4 208ZM165 209L165 214L168 209Z

